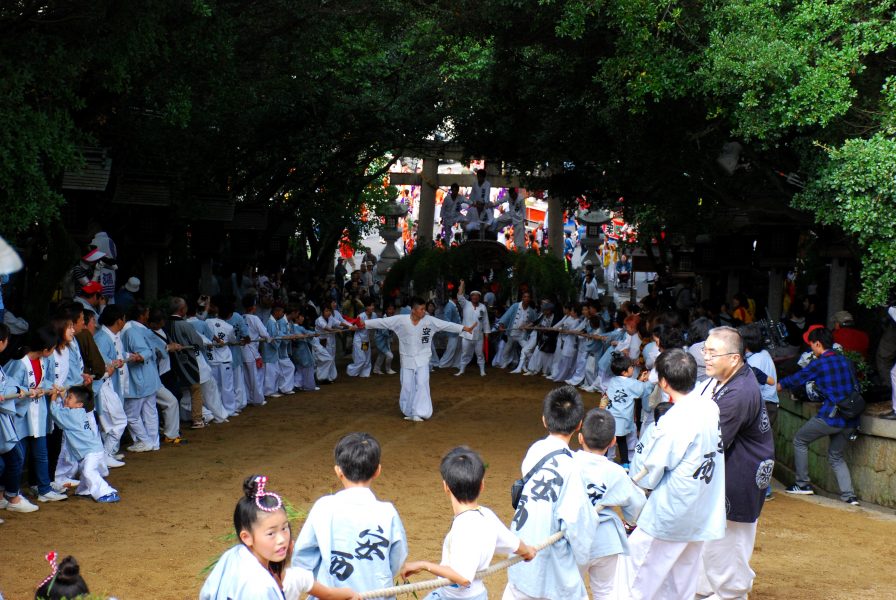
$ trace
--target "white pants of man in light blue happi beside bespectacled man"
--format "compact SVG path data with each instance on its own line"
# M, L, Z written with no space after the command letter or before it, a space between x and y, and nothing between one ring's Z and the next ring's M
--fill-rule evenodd
M692 599L700 576L703 542L667 542L639 527L628 538L628 584L632 600Z

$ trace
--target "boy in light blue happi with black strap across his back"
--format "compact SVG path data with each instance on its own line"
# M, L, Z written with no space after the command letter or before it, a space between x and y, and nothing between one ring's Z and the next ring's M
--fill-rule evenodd
M561 530L566 535L531 562L508 569L506 600L585 597L577 565L588 562L598 520L569 451L584 415L582 398L572 386L556 388L544 399L548 436L532 444L523 459L522 474L529 477L510 530L537 542Z

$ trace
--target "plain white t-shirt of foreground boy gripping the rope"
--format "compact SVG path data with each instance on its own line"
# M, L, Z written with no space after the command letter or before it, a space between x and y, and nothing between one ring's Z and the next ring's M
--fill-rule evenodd
M444 598L475 598L485 591L485 584L476 581L476 571L492 562L495 552L511 554L520 546L520 538L511 533L490 509L480 506L454 517L451 530L442 543L441 564L451 567L468 579L470 587L451 585L442 588Z

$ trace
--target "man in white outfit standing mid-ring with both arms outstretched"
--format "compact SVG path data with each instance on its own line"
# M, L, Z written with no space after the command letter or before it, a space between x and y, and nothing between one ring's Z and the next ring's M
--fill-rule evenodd
M461 284L463 285L463 284ZM367 319L359 329L389 329L398 336L401 354L401 395L398 404L407 421L423 421L432 416L429 394L429 361L432 339L438 331L470 333L476 325L462 326L426 314L422 298L411 299L411 314L383 319Z

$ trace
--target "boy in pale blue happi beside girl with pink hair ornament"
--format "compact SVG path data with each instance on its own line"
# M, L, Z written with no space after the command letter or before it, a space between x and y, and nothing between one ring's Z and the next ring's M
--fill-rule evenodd
M395 507L370 490L382 471L380 445L368 433L350 433L336 444L334 457L343 490L311 507L292 564L313 571L324 585L358 592L391 586L408 544Z

